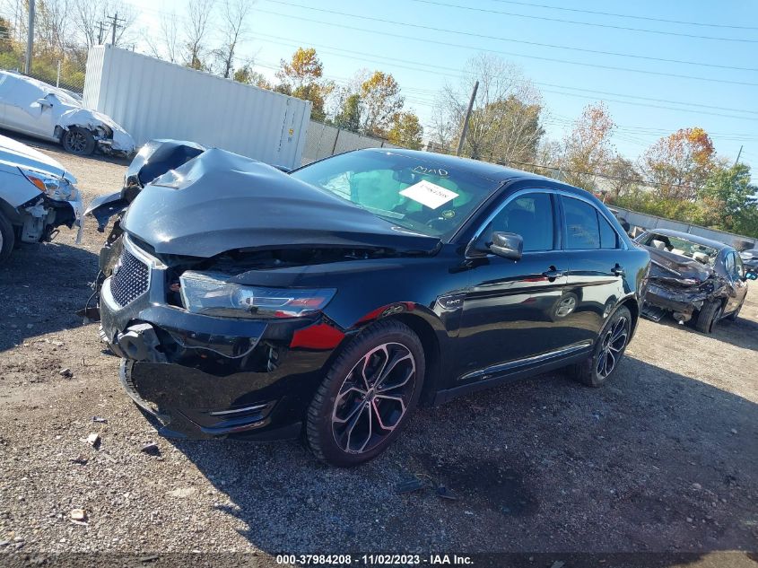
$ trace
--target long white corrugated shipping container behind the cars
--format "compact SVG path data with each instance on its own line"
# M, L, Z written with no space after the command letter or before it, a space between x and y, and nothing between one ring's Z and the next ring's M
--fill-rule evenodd
M110 45L90 48L83 104L137 145L176 138L288 168L301 164L311 105Z

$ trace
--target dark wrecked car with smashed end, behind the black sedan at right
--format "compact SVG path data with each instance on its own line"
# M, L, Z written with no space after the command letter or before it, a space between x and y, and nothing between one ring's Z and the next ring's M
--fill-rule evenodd
M747 294L745 270L736 249L686 232L658 229L637 239L649 250L650 274L642 315L659 321L670 313L680 324L712 333L719 319L734 320Z

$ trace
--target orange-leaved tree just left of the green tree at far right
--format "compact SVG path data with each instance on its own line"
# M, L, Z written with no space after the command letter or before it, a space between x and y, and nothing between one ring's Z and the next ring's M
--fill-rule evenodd
M640 168L659 197L693 200L714 168L713 158L713 142L705 130L682 128L653 144Z

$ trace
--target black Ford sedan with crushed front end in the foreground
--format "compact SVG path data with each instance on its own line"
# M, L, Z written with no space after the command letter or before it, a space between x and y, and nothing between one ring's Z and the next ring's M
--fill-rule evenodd
M126 392L164 435L304 433L337 466L385 450L419 402L567 365L601 385L649 267L587 192L434 153L287 174L156 142L89 213L126 205L98 278Z

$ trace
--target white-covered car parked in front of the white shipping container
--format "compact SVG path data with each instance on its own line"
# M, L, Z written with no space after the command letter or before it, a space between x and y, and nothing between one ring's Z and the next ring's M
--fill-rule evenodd
M62 144L70 153L135 152L132 136L112 118L84 109L64 89L11 71L0 71L0 127Z

